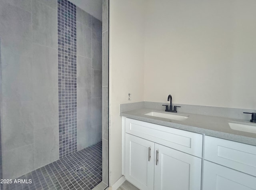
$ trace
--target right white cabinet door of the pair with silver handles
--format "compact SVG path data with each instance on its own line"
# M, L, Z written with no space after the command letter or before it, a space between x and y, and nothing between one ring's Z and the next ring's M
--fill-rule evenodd
M155 144L155 155L155 190L200 190L200 158L160 144Z

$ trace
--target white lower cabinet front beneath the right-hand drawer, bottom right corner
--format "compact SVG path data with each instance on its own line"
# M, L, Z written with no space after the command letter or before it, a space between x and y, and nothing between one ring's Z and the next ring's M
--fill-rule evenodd
M256 177L204 161L203 190L256 190Z

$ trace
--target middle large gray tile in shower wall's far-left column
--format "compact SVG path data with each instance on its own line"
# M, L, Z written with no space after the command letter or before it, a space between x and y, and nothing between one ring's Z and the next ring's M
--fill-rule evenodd
M32 100L32 58L2 51L2 100Z

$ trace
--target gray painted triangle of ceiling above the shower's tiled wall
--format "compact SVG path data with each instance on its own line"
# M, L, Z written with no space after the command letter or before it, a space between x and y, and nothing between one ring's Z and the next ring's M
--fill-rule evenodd
M102 0L70 0L70 2L102 21Z

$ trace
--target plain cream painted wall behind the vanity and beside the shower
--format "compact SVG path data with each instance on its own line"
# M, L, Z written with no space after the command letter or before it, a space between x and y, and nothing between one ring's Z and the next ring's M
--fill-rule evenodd
M120 103L172 94L256 109L255 10L255 0L110 0L110 185L121 176Z

